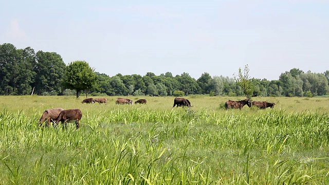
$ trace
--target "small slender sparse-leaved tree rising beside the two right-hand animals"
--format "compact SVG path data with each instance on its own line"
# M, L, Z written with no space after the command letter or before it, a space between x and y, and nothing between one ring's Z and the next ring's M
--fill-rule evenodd
M236 76L235 74L233 75L233 78L236 82L237 85L239 85L243 91L243 93L245 94L246 98L248 100L250 100L253 91L254 91L254 87L253 87L253 83L250 80L249 77L249 67L248 64L245 65L245 69L242 73L242 69L239 68L239 75Z

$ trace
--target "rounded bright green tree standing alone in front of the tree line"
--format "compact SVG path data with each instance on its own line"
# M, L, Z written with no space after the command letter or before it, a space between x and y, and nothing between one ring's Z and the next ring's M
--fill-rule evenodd
M81 90L87 92L87 90L92 90L96 87L97 76L94 70L85 61L71 62L65 70L64 87L76 90L77 98L79 98Z

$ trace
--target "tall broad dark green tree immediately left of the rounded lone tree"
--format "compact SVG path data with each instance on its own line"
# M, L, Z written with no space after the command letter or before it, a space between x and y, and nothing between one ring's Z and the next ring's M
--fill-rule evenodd
M56 52L36 52L35 67L36 80L34 83L35 92L38 95L51 93L53 95L61 94L63 88L61 81L64 76L65 63L61 55Z

